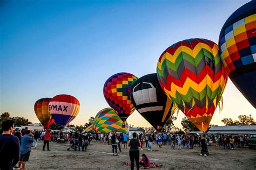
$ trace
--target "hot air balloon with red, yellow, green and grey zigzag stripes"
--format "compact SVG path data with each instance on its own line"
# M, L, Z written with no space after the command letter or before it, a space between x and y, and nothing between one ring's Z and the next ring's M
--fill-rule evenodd
M210 40L183 40L167 48L157 64L161 88L201 131L207 130L227 82L218 50Z

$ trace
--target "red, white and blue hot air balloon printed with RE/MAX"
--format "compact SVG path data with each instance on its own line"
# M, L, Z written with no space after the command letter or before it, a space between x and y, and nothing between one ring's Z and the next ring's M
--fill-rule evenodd
M79 101L70 95L57 95L49 103L51 116L59 126L68 125L78 115L79 109Z

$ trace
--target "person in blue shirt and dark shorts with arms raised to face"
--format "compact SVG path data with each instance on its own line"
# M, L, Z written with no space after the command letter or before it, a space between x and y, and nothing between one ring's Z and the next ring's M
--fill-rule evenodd
M33 134L30 130L26 130L25 135L21 139L21 157L19 158L19 167L25 169L26 162L29 161L31 144L34 141Z

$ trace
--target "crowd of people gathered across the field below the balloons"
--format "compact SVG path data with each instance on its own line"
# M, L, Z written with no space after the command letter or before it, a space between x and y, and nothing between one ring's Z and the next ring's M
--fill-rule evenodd
M122 152L122 148L129 149L131 159L131 169L133 169L134 162L138 168L139 165L149 166L150 160L145 154L142 155L142 160L139 161L139 150L147 148L152 151L153 144L155 147L167 146L170 149L178 150L193 149L194 147L201 147L200 155L208 155L208 146L210 141L216 146L223 146L224 149L234 150L235 147L244 147L248 145L248 137L246 135L218 135L206 136L206 134L172 134L172 133L133 133L132 138L129 139L127 133L87 133L79 131L49 131L49 130L35 130L31 131L28 128L14 129L14 121L8 120L2 123L2 134L0 134L0 160L4 164L0 164L0 169L12 169L13 167L25 169L26 161L29 160L31 147L37 148L38 140L43 141L42 151L50 151L49 141L56 143L69 142L75 148L84 149L84 143L90 144L91 140L96 143L103 143L112 146L113 155L118 155L117 151ZM70 145L71 147L71 145ZM69 150L69 148L68 148ZM75 149L76 150L76 149Z

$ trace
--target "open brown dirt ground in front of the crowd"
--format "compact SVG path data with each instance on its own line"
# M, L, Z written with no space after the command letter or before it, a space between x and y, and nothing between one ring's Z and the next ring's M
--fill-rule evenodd
M42 151L43 143L38 142L37 148L32 148L28 169L130 169L121 165L130 161L129 148L122 148L118 156L112 156L111 145L96 143L89 145L86 152L67 151L69 144L50 142L51 151ZM147 148L140 150L140 156L145 153L151 162L162 164L156 169L256 169L256 149L235 148L224 150L223 147L210 146L210 155L200 156L200 147L193 150L171 150L170 146L159 148L153 144L153 151Z

